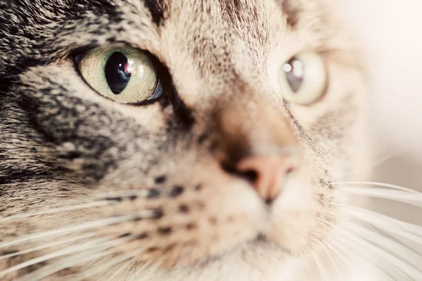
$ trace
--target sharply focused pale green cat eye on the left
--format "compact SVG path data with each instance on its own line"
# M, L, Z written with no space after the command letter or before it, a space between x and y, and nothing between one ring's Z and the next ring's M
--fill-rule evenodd
M94 48L84 53L77 64L89 86L119 103L139 104L162 95L155 63L148 53L137 48Z

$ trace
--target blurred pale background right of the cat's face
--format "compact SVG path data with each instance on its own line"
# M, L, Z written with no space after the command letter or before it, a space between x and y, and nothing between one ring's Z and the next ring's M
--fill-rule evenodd
M422 191L422 1L339 0L369 59L379 164L374 181ZM387 200L373 207L422 225L421 209Z

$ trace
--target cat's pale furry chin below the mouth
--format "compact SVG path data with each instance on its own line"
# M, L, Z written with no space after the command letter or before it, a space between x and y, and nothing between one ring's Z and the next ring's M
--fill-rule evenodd
M290 256L281 247L262 240L248 242L220 256L213 256L193 266L158 269L153 266L129 274L131 281L284 281L300 273L305 260ZM111 275L110 275L111 276ZM123 276L123 275L122 275ZM124 273L127 277L128 273ZM105 280L121 280L121 276ZM124 280L124 278L122 279Z

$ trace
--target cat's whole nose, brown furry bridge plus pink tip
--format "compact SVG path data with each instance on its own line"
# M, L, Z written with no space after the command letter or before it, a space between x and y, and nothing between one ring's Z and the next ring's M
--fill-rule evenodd
M268 100L246 92L215 107L216 156L224 170L247 180L271 204L298 163L288 119Z

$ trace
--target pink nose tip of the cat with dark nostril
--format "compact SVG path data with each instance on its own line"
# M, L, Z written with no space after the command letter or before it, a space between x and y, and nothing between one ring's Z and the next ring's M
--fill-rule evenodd
M298 165L295 155L250 155L236 164L238 174L248 178L267 204L280 194L286 176Z

